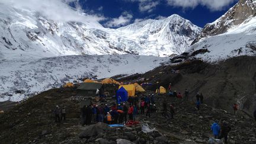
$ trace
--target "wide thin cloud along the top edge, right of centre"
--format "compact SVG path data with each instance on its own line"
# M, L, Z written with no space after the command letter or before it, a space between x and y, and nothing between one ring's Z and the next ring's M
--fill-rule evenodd
M196 8L198 5L209 8L211 11L220 11L238 0L167 0L174 7Z

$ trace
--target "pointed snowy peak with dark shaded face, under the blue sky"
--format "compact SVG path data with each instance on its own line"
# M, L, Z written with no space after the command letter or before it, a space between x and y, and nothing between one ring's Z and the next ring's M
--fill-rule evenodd
M201 28L174 14L163 20L145 20L118 30L143 46L151 46L151 49L143 50L146 55L153 55L156 51L158 56L168 56L166 53L183 53Z

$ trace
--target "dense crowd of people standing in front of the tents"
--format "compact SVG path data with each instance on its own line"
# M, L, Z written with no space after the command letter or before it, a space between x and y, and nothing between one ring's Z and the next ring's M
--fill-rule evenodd
M108 104L84 105L81 108L82 125L104 122L108 124L124 124L128 120L136 120L137 114L145 114L151 117L151 113L156 112L155 96L149 94L142 98L129 97L127 102L114 103L110 107Z

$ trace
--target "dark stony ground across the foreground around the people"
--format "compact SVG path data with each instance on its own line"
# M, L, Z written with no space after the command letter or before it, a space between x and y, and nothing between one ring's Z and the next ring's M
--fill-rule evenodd
M79 124L79 101L73 95L74 89L52 89L1 114L0 143L206 143L212 136L210 125L213 120L227 120L231 124L229 142L256 143L256 122L244 113L235 116L208 105L201 105L198 111L193 99L182 101L167 95L156 97L158 113L153 113L151 118L137 116L140 124L136 126L110 128L98 123L82 127ZM111 101L108 98L107 103ZM162 116L162 101L174 104L177 113L174 120ZM66 121L54 122L55 105L66 105ZM143 133L143 124L157 131ZM91 132L97 127L97 132ZM83 132L90 133L81 139L79 136Z

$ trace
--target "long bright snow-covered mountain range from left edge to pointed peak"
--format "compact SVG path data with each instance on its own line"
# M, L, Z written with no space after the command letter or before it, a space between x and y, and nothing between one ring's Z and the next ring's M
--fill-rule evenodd
M168 56L184 52L199 31L178 15L111 29L93 20L53 21L40 12L0 2L0 59L125 53Z

